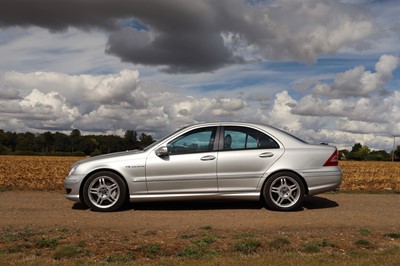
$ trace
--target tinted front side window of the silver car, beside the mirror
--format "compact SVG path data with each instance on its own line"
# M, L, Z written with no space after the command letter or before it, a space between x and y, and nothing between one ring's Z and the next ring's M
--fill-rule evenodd
M189 131L167 144L170 155L212 151L216 127Z

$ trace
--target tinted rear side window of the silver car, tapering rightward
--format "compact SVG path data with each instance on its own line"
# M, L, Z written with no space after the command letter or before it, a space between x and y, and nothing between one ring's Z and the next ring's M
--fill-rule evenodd
M224 150L276 149L278 143L268 135L247 127L225 127Z

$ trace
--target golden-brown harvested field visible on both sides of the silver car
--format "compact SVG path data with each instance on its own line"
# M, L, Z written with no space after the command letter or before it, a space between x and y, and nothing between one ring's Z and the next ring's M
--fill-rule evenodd
M0 188L62 190L71 165L82 157L0 156ZM400 192L399 162L341 161L344 191Z

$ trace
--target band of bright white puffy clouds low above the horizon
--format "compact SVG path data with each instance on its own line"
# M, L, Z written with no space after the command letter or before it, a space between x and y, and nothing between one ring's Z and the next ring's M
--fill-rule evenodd
M196 122L242 120L275 125L309 142L339 147L362 142L389 150L380 136L400 133L400 92L385 89L397 64L397 57L382 56L375 72L355 67L337 74L331 84L319 82L311 94L300 98L288 90L271 97L261 86L196 93L163 83L143 83L135 70L109 75L7 72L0 76L8 88L0 99L0 128L78 128L119 134L134 129L159 138ZM371 82L374 85L366 93L363 80L371 75L377 82ZM342 87L345 80L356 84L350 94ZM317 92L322 85L326 93Z

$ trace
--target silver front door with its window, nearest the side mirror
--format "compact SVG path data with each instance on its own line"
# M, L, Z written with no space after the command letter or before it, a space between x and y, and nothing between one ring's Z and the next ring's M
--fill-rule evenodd
M217 127L193 129L167 143L167 156L152 152L146 161L148 192L218 191L216 134Z

